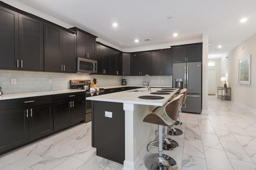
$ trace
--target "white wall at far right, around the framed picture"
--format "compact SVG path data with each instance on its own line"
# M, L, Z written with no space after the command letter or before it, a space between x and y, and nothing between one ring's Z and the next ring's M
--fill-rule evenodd
M221 58L221 76L228 78L231 87L231 99L256 110L256 34ZM244 47L244 49L242 49ZM238 60L251 55L251 84L238 84Z

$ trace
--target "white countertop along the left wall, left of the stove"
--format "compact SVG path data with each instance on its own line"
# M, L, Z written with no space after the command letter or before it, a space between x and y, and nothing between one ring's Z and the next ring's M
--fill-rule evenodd
M66 89L66 90L43 91L43 92L3 94L2 96L0 96L0 100L47 96L47 95L53 95L53 94L64 94L64 93L72 93L72 92L84 92L84 90Z

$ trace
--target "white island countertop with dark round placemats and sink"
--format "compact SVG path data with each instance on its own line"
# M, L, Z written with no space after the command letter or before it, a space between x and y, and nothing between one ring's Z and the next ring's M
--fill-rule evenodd
M145 90L144 92L134 92L136 90ZM103 101L103 102L117 102L117 103L130 103L130 104L142 104L142 105L150 105L150 106L164 106L166 102L178 91L172 90L173 92L169 92L167 95L159 95L159 94L150 94L151 92L156 92L158 90L162 90L162 88L151 88L151 92L146 91L146 88L137 88L134 90L126 90L122 92L115 92L110 94L104 94L99 96L92 96L86 98L86 100L95 100L95 101ZM164 99L159 100L146 100L140 99L139 96L162 96Z

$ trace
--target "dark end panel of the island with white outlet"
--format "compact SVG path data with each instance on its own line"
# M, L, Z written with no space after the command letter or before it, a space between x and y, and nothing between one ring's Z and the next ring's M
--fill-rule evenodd
M105 117L112 112L112 118ZM92 101L92 147L97 155L124 164L124 110L122 103Z

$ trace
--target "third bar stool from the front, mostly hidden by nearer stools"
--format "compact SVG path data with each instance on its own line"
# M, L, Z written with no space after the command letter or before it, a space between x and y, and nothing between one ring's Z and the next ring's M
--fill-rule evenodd
M178 113L178 117L177 117L177 118L179 118L179 120L180 120L180 113L181 113L182 105L185 104L185 101L186 101L187 89L183 88L182 90L180 90L180 94L184 94L184 97L182 99L182 103L180 104L179 113ZM185 104L185 106L186 106L186 104ZM182 125L182 122L176 120L174 125L176 125L176 126ZM180 130L178 128L174 128L174 126L172 126L170 128L171 129L168 132L169 135L178 136L178 135L182 135L183 134L182 130Z

